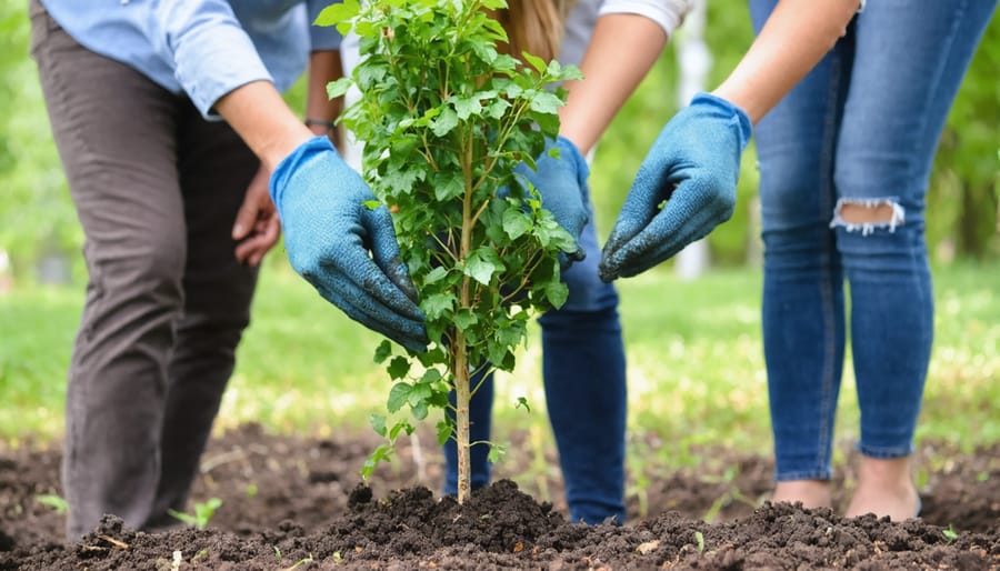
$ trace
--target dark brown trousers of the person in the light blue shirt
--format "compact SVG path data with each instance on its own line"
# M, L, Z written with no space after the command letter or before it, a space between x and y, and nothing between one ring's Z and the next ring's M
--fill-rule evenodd
M224 122L81 47L38 0L30 14L89 274L66 402L67 534L104 513L169 525L250 319L256 272L230 229L259 163Z

